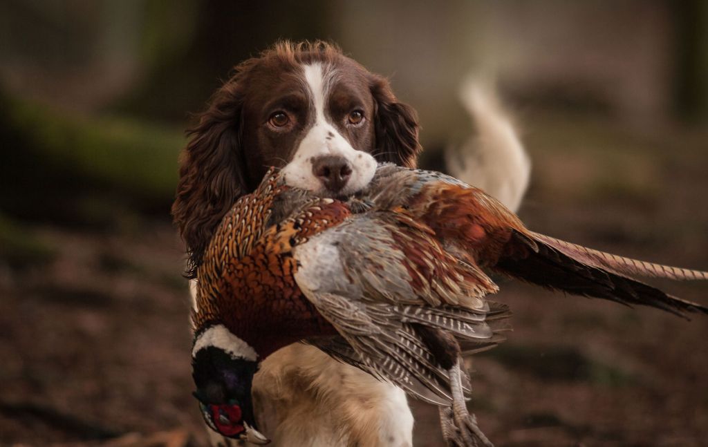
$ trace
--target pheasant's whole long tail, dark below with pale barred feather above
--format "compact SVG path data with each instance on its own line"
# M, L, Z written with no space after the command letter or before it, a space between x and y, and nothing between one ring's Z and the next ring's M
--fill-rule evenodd
M492 268L511 277L569 294L604 298L627 306L651 306L683 317L686 312L708 314L706 306L671 296L632 277L633 274L643 274L673 279L708 279L705 272L615 258L531 232L513 230L507 244L506 254Z

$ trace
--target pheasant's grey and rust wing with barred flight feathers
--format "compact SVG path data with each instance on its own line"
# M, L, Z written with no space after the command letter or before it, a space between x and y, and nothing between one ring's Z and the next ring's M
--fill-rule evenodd
M447 254L430 228L405 213L353 216L293 255L299 288L357 356L331 340L310 342L438 405L452 400L449 377L415 325L438 327L478 350L500 339L487 315L508 316L506 307L484 300L496 284Z

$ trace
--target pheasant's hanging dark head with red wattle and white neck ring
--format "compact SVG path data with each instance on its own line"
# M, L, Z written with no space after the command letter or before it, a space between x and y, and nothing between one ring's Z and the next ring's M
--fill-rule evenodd
M251 383L258 369L256 353L223 325L195 337L192 377L202 417L217 433L251 443L270 442L256 429Z

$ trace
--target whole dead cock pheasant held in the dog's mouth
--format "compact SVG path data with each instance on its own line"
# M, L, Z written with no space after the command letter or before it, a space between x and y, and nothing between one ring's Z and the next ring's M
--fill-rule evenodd
M707 272L534 233L481 190L439 173L383 165L367 190L338 200L287 187L271 171L224 217L199 267L193 376L207 424L268 442L251 402L258 359L306 339L440 405L448 443L491 445L467 412L461 361L503 339L509 313L485 300L498 290L486 271L678 315L708 313L634 279Z

